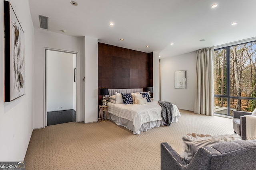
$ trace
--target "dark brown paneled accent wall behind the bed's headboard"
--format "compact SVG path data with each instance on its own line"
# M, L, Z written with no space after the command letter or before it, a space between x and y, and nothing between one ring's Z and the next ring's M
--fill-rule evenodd
M153 86L153 53L98 43L98 87Z

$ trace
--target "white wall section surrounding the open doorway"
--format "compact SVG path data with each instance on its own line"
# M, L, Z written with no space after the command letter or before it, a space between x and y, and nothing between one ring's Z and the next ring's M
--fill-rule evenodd
M34 29L34 129L44 127L44 47L78 52L78 121L83 121L82 105L84 82L84 41L80 37L72 37L60 33L53 33L43 29ZM80 61L81 60L81 61Z

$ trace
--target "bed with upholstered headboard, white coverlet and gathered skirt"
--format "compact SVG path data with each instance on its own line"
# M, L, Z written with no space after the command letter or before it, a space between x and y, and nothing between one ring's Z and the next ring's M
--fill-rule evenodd
M118 93L143 92L143 88L136 89L109 89L109 96ZM114 104L108 102L108 119L133 131L134 134L140 134L142 131L150 130L154 127L164 126L164 120L161 117L162 107L158 101L147 102L146 104ZM180 117L178 107L173 104L172 122L177 122Z

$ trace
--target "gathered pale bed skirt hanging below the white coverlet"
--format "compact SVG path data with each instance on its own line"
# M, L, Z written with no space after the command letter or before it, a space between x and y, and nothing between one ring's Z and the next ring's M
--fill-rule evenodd
M133 131L133 124L132 121L129 121L127 119L117 117L116 115L113 115L111 113L108 113L108 119L111 121L114 121L117 125L121 125L123 127L126 127L130 131ZM140 132L150 130L154 127L160 127L164 126L164 120L157 120L157 121L151 121L147 122L141 125L140 129L138 131L133 131L133 134L140 134Z

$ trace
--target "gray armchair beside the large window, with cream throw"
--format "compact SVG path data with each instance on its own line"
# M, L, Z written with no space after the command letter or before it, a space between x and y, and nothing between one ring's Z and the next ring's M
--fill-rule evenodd
M252 115L252 112L233 111L233 129L243 140L246 140L246 119L244 115Z

